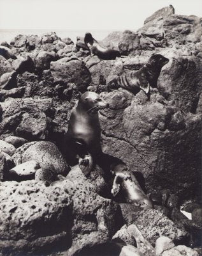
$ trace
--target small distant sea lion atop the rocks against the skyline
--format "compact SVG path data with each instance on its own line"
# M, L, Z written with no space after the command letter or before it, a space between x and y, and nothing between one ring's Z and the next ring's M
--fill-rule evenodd
M102 60L115 60L115 58L120 57L119 51L101 46L89 32L85 33L84 43L89 47L92 55L97 55Z

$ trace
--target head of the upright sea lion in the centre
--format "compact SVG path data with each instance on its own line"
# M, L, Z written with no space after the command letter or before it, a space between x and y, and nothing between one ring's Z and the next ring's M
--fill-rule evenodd
M78 108L89 114L95 114L99 109L108 108L109 104L95 92L85 92L80 97Z

